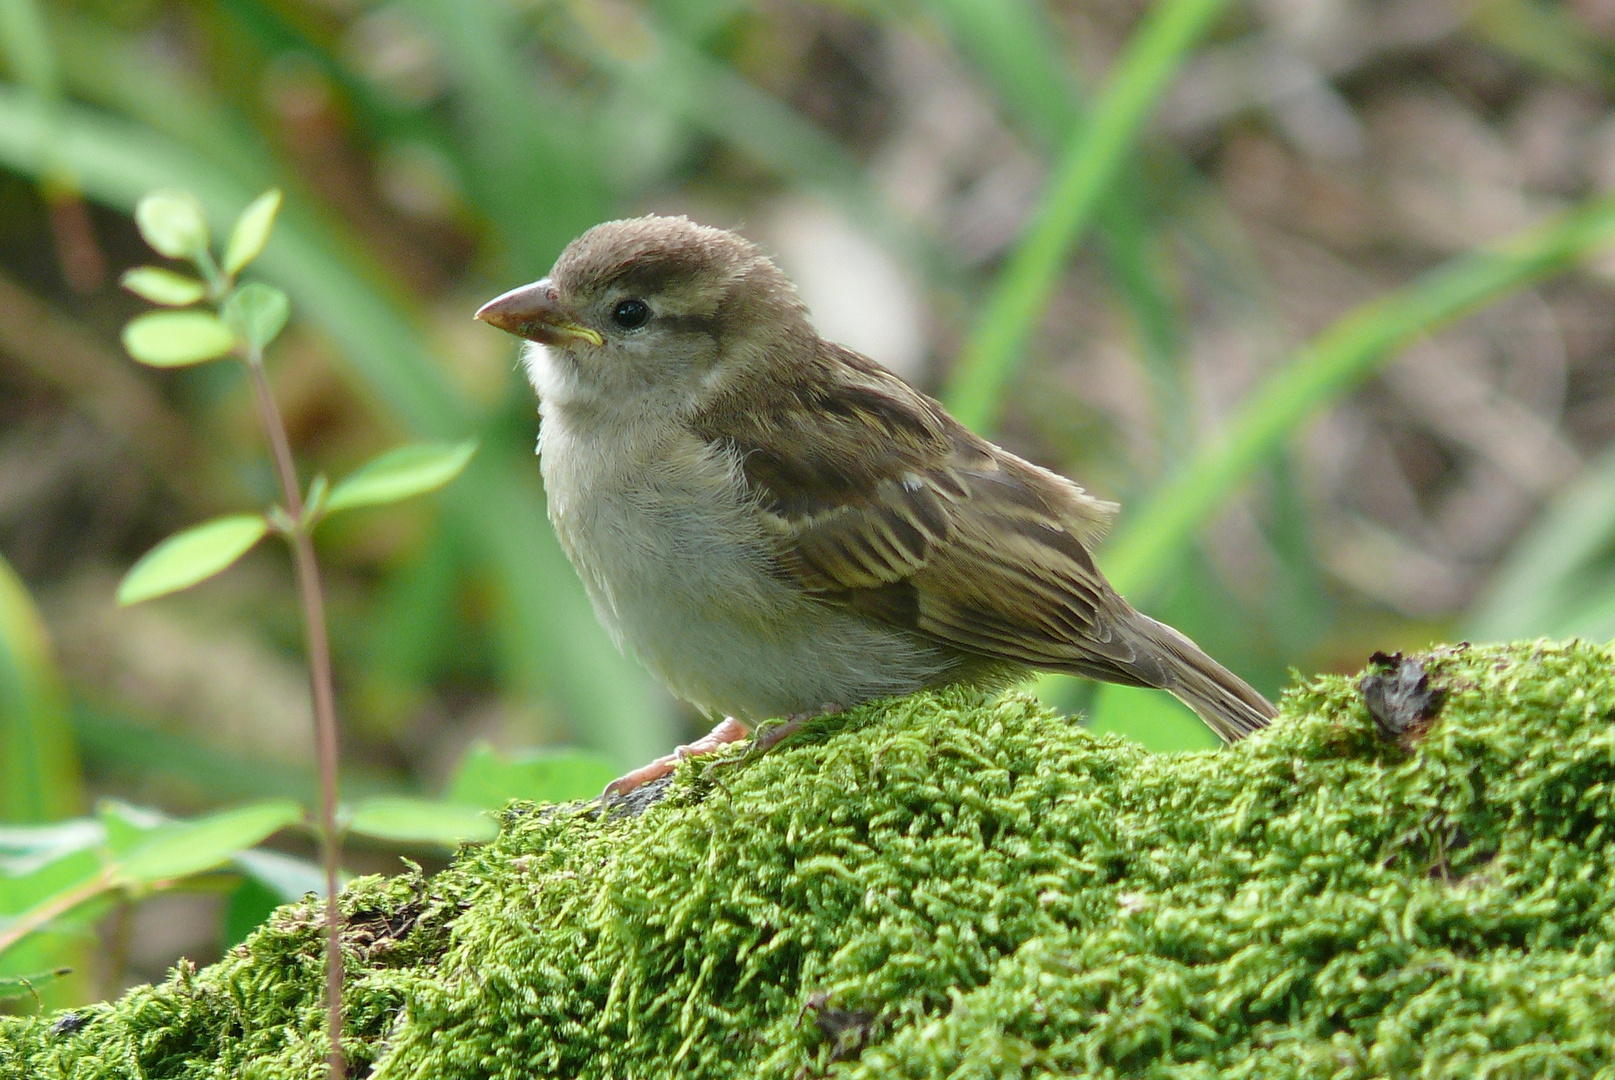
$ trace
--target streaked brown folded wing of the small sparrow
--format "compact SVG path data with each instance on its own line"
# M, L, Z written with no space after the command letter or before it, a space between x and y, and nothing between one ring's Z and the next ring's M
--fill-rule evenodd
M1089 555L1114 505L827 350L814 378L703 429L736 455L778 573L972 654L1126 678L1134 647L1110 615L1127 609Z

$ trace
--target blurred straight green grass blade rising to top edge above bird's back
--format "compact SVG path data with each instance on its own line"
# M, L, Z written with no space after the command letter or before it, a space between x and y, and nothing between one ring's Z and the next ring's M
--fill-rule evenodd
M1164 0L1134 31L1089 123L1071 136L1043 202L998 276L943 400L988 429L1071 252L1132 150L1139 128L1224 0Z

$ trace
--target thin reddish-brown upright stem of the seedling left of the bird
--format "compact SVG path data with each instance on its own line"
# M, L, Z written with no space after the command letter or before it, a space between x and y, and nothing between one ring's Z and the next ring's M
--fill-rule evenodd
M292 530L286 541L292 547L297 573L297 592L302 597L304 634L308 643L308 681L313 688L313 722L320 756L320 857L325 864L325 927L326 927L326 1011L331 1040L329 1080L342 1080L342 909L338 906L338 873L342 859L342 835L336 828L336 694L331 680L331 641L325 628L325 592L320 588L320 563L313 557L312 521L305 520L302 491L297 486L297 465L292 462L286 423L270 392L270 379L263 371L263 354L247 350L247 371L252 376L252 396L258 402L275 471L281 478L281 496L291 515Z

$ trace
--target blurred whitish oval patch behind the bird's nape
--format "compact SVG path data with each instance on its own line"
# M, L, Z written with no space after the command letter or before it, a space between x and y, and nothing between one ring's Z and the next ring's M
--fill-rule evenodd
M812 312L819 333L904 379L925 358L924 308L891 255L822 203L780 200L761 236Z

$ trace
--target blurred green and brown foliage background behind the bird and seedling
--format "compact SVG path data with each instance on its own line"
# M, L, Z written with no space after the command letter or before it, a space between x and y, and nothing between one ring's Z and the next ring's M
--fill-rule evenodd
M652 210L743 229L827 336L1121 500L1118 584L1268 693L1615 636L1610 0L0 0L0 58L5 820L312 797L283 554L111 599L275 497L234 365L118 345L153 187L215 229L286 192L258 273L307 473L481 441L320 538L349 796L699 726L596 626L515 345L470 320ZM1043 691L1205 741L1158 694ZM71 993L205 959L226 902L120 909Z

